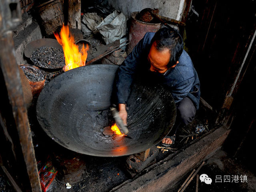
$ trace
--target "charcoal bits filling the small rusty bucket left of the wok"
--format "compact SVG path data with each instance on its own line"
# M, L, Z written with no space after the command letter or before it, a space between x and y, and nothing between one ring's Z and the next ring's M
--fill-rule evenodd
M40 69L30 67L30 66L20 66L28 80L32 82L39 82L44 80L44 74Z

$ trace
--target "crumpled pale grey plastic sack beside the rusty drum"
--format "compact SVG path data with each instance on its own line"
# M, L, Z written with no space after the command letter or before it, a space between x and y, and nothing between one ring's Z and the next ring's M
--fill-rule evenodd
M106 44L112 43L126 35L126 17L122 12L115 10L97 26L97 29Z

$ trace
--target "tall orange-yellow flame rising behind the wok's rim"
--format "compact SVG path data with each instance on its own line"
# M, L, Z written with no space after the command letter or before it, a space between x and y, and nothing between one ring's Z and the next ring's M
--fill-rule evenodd
M89 50L89 46L87 44L86 48L84 48L83 45L80 52L78 45L75 44L74 36L72 36L72 34L69 34L69 28L65 25L62 26L60 30L60 35L58 33L54 33L54 36L63 48L66 63L66 66L64 68L65 71L85 66L87 51Z

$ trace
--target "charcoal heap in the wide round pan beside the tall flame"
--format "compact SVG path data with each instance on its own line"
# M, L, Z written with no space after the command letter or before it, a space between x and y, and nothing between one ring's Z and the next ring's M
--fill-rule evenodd
M30 60L39 67L48 69L62 68L65 65L63 50L54 47L40 47L30 56Z

